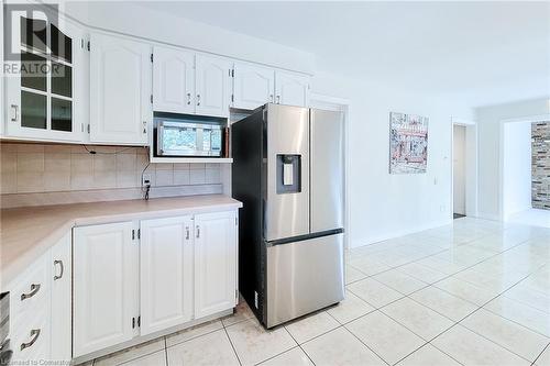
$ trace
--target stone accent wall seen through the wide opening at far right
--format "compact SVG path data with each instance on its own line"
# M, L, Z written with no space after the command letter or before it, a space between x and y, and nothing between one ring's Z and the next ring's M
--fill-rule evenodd
M550 122L532 123L531 137L532 208L550 210Z

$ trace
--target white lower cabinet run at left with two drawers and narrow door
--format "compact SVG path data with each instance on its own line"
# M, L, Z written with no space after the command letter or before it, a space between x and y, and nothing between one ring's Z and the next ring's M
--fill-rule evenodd
M70 234L8 286L13 364L70 361Z

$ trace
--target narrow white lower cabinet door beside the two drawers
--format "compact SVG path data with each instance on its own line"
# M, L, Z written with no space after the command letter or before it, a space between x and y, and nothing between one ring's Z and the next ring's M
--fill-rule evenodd
M72 344L72 235L52 247L52 359L69 362Z

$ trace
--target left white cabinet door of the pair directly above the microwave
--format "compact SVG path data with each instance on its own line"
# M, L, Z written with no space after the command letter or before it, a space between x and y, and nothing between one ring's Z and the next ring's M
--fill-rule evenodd
M154 47L153 108L162 112L195 112L195 53Z

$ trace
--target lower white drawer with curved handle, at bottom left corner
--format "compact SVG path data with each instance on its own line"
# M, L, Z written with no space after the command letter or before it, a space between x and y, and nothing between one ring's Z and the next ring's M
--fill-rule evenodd
M48 321L50 318L47 315L35 317L26 325L15 328L14 332L10 334L13 351L12 362L19 362L22 365L33 365L33 362L36 362L36 365L40 365L41 361L50 358ZM40 333L31 333L33 331L38 331ZM21 345L23 344L26 346L21 350Z

